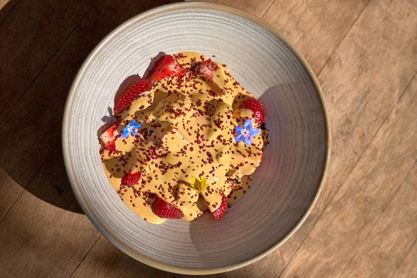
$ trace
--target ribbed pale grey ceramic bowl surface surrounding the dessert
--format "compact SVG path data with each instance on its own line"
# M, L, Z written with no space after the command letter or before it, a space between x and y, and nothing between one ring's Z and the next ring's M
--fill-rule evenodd
M236 268L277 245L309 210L327 157L325 112L302 62L266 28L210 7L157 8L118 28L85 63L65 113L67 170L85 212L124 252L174 272ZM101 118L122 81L142 75L158 51L215 55L265 108L270 145L247 195L219 221L149 224L124 206L101 167Z

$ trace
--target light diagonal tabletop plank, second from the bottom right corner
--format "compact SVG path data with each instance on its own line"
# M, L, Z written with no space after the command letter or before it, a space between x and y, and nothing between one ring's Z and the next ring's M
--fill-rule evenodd
M416 88L414 79L282 277L295 274L337 277L347 268L354 251L416 162L417 113L413 113L417 104Z

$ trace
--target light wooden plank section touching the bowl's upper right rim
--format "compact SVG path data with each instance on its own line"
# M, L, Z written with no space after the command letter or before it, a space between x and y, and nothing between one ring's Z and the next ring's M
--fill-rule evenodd
M263 19L284 33L319 74L368 2L274 1Z

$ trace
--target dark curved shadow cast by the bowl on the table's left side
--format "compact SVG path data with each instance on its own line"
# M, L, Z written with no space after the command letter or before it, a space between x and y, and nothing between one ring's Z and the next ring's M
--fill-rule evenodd
M177 0L109 0L84 3L83 5L90 5L89 9L85 9L86 15L79 17L78 24L71 23L75 28L72 31L66 29L67 37L63 39L63 42L58 42L62 43L59 47L53 45L57 49L56 52L45 50L45 55L50 54L50 60L46 60L42 56L36 56L33 60L30 60L31 57L29 57L26 61L16 58L16 63L22 64L19 67L27 67L36 63L44 63L44 67L39 67L39 70L42 70L38 75L33 73L36 69L28 72L33 75L30 76L33 79L32 83L28 83L28 88L22 91L24 95L17 104L11 106L10 111L7 111L6 114L1 114L4 117L0 117L0 135L3 145L0 152L0 169L8 177L44 202L67 211L83 213L76 202L70 181L67 178L61 145L63 110L72 81L90 51L109 32L145 10L173 2L177 2ZM15 0L6 3L0 10L0 28L13 26L13 22L17 20L17 14L19 17L31 19L37 16L42 17L34 18L33 21L51 20L50 24L54 24L53 21L56 20L57 15L68 13L65 2L54 3L52 8L38 8L39 6L36 6L35 8L38 9L36 13L32 13L30 8L22 8L22 5L26 4L26 1ZM54 17L44 13L54 13ZM44 19L46 16L48 19ZM74 18L70 19L75 20L76 16L74 15ZM70 23L65 22L65 24ZM50 27L48 26L48 28ZM54 28L56 31L57 28ZM59 28L64 28L64 26L59 26ZM1 35L12 42L25 42L26 40L27 43L30 35L28 28L20 28L20 26L16 26L13 38L11 35L8 36L4 30ZM31 38L31 40L33 39ZM47 39L54 38L51 35L42 35L42 40L35 41L33 44L36 44L36 49L43 46L47 49L47 47L51 47L51 43L46 41ZM9 52L1 53L0 51L0 56L19 57L14 49ZM8 77L6 76L4 79L0 77L1 97L13 95L10 82L19 80L19 73L13 72L13 70L10 72L9 65L0 65L0 72L8 74ZM4 85L8 84L8 87L3 88L3 83ZM24 124L17 128L17 122ZM13 134L13 137L6 136L7 134Z

